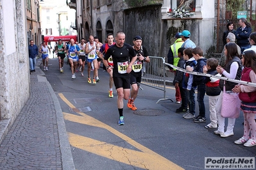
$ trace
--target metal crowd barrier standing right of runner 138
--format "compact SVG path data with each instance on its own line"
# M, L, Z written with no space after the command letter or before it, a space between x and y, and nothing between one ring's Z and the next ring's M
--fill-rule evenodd
M171 100L173 102L171 98L166 98L165 59L155 56L149 56L149 58L149 63L143 63L141 84L164 91L164 98L160 98L157 104L161 100Z

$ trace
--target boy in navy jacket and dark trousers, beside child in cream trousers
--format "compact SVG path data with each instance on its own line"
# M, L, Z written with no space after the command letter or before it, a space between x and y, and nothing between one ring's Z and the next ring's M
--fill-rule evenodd
M203 58L203 50L200 47L196 47L192 50L192 54L194 59L196 59L197 64L194 67L194 72L203 73L203 66L206 65L206 59ZM188 71L193 71L191 68L187 69ZM194 86L198 86L198 107L199 107L199 114L196 118L193 118L194 122L201 123L205 122L205 102L203 98L205 97L205 77L200 75L194 75L193 77L193 84Z

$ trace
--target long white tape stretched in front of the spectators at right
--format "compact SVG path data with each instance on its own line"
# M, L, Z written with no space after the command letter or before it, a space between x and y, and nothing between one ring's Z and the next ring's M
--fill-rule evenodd
M178 66L174 66L174 65L171 65L169 63L164 63L165 65L168 65L168 66L171 66L172 68L175 68L176 70L179 70L180 72L184 72L184 73L191 73L193 75L201 75L201 76L206 76L206 77L214 77L214 78L217 78L217 79L221 79L221 80L224 80L224 81L230 81L230 82L235 82L235 83L238 83L238 84L244 84L244 85L247 85L247 86L253 86L256 88L256 83L253 83L253 82L247 82L247 81L239 81L239 80L235 80L235 79L228 79L226 77L221 77L221 76L217 76L217 75L212 75L212 74L209 74L209 73L200 73L200 72L189 72L183 68L180 68Z

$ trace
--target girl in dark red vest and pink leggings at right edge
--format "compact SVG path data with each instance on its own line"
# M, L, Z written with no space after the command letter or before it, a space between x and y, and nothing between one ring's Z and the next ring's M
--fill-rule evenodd
M246 50L242 56L244 69L241 81L256 83L256 53L253 50ZM236 85L232 91L239 93L241 100L241 110L244 112L244 135L235 144L244 146L256 146L256 88L253 86ZM250 137L251 132L251 137Z

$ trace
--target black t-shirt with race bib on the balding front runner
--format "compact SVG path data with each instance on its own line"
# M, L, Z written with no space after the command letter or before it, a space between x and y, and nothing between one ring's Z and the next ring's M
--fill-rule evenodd
M123 47L117 47L116 44L112 45L105 54L104 59L108 59L112 56L114 68L113 77L130 77L130 74L126 73L129 65L130 56L136 56L133 47L128 43L124 43Z

